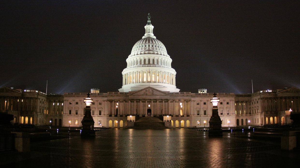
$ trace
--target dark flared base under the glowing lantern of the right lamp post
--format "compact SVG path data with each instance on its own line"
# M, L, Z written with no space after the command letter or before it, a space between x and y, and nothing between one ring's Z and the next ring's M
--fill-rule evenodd
M222 136L222 121L218 114L218 108L212 107L212 115L210 117L208 136Z

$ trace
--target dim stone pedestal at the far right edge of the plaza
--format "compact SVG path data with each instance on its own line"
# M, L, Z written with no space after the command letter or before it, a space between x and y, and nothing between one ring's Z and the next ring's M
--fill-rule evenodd
M282 150L292 150L297 147L297 132L299 131L283 131L281 136Z

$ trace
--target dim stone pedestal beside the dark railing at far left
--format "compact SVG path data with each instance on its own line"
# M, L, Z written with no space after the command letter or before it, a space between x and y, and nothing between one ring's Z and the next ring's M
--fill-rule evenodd
M18 152L30 151L30 138L27 132L11 132L15 134L15 149Z

